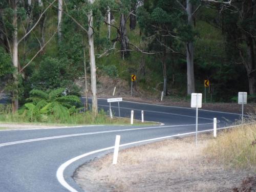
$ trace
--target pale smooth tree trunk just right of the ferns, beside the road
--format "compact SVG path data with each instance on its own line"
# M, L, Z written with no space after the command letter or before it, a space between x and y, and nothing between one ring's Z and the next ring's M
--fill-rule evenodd
M92 0L90 0L93 3ZM93 116L96 117L98 114L98 103L97 103L97 88L96 88L96 62L94 55L94 39L93 39L93 13L90 11L88 15L88 41L90 50L90 65L91 65L91 88L92 88L92 112Z

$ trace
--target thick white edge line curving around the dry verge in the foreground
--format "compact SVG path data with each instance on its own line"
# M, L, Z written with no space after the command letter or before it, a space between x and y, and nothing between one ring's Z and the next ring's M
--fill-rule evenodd
M255 122L252 122L252 123L255 123ZM247 123L247 124L252 124L252 123ZM241 126L241 125L234 125L234 126L228 126L228 127L222 127L222 128L219 128L218 130L220 129L227 129L227 128L230 128L230 127L237 127L237 126ZM209 131L213 131L213 129L210 129L210 130L204 130L204 131L199 131L198 133L203 133L203 132L209 132ZM165 136L165 137L158 137L158 138L153 138L153 139L147 139L147 140L141 140L141 141L135 141L135 142L131 142L131 143L125 143L125 144L121 144L119 145L120 147L122 146L128 146L128 145L133 145L133 144L137 144L137 143L143 143L143 142L148 142L148 141L156 141L156 140L160 140L160 139L167 139L167 138L172 138L172 137L179 137L179 136L184 136L184 135L191 135L191 134L195 134L196 132L189 132L189 133L183 133L183 134L176 134L176 135L170 135L170 136ZM82 154L82 155L79 155L77 157L74 157L68 161L66 161L65 163L61 164L59 166L59 168L57 169L57 172L56 172L56 177L59 181L59 183L67 188L70 192L78 192L76 189L74 189L73 187L71 187L67 182L66 180L64 179L64 171L65 169L72 163L74 163L75 161L83 158L83 157L87 157L89 155L92 155L92 154L96 154L96 153L99 153L99 152L103 152L103 151L107 151L107 150L111 150L112 148L114 148L115 146L111 146L111 147L106 147L106 148L101 148L99 150L95 150L95 151L92 151L92 152L89 152L89 153L85 153L85 154Z

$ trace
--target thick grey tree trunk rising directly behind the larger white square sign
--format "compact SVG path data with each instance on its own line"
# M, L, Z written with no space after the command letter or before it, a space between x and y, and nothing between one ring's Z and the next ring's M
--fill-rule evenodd
M187 22L188 25L193 27L193 5L191 4L191 0L187 1ZM190 95L191 93L195 92L195 76L194 76L194 45L192 41L187 42L186 45L187 51L187 94Z

